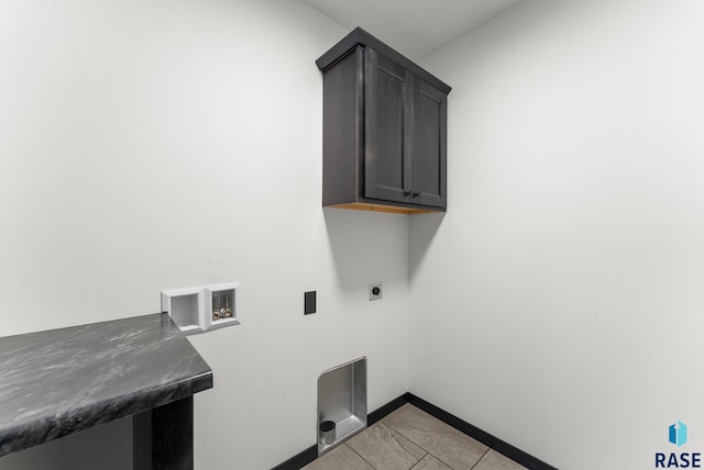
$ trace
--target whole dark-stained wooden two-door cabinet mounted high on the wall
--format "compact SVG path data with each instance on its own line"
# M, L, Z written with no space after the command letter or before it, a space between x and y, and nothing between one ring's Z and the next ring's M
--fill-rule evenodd
M451 88L359 27L316 64L323 72L322 205L444 211Z

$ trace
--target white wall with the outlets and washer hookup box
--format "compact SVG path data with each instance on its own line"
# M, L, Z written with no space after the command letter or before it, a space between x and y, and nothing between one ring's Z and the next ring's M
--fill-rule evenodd
M338 363L369 357L370 410L408 390L408 219L320 208L315 59L344 34L284 0L0 7L0 335L241 281L242 324L191 338L215 372L197 468L314 445Z

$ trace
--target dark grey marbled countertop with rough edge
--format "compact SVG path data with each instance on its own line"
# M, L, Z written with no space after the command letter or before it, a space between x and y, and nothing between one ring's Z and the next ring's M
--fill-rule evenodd
M168 315L0 338L0 456L212 388Z

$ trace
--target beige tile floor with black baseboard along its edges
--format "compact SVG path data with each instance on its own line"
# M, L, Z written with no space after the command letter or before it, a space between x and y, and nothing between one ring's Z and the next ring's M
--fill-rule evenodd
M525 470L428 413L405 404L304 470Z

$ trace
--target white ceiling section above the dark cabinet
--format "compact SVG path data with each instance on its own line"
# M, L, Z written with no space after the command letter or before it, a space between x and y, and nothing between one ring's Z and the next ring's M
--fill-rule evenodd
M348 30L361 26L419 60L520 0L302 0Z

